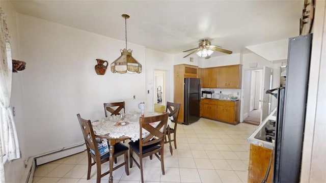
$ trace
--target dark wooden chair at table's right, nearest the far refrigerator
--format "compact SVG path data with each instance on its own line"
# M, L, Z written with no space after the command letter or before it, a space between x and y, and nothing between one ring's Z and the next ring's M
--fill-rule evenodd
M180 110L181 104L173 103L173 102L167 102L167 108L166 112L169 113L170 120L174 123L174 127L171 128L170 125L167 127L167 132L165 137L165 143L170 143L170 152L172 155L172 147L171 142L174 142L174 148L177 148L177 125L178 125L178 115ZM173 134L173 139L171 139L171 134Z

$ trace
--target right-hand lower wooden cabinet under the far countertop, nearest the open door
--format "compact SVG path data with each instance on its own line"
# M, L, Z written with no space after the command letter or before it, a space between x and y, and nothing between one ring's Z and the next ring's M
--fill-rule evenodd
M240 101L218 101L217 120L237 125L239 123Z

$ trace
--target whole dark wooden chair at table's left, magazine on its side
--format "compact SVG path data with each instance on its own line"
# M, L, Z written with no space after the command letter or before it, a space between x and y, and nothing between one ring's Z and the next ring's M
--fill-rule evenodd
M93 127L90 120L86 120L80 117L80 114L77 114L77 118L79 121L80 128L82 128L82 132L84 135L84 140L87 148L87 157L88 157L88 170L87 170L87 180L90 179L91 168L96 164L96 182L99 183L101 178L110 173L110 169L103 174L101 174L101 164L109 161L110 154L106 153L100 156L100 152L98 149L98 142L101 142L101 139L94 134ZM128 147L123 145L122 143L117 143L114 146L114 158L116 163L116 157L124 155L124 162L115 166L113 170L116 170L124 165L126 174L129 175L128 168ZM91 152L94 152L94 154ZM93 163L92 163L93 159Z

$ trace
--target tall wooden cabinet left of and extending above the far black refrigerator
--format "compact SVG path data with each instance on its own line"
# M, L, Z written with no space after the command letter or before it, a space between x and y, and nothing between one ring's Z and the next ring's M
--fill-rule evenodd
M174 103L181 104L178 122L184 120L184 78L197 78L198 67L186 64L174 66Z

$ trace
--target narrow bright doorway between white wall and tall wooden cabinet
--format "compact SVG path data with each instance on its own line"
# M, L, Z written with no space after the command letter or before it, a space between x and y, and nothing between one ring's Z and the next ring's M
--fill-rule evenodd
M154 111L163 112L166 103L166 71L154 70Z

